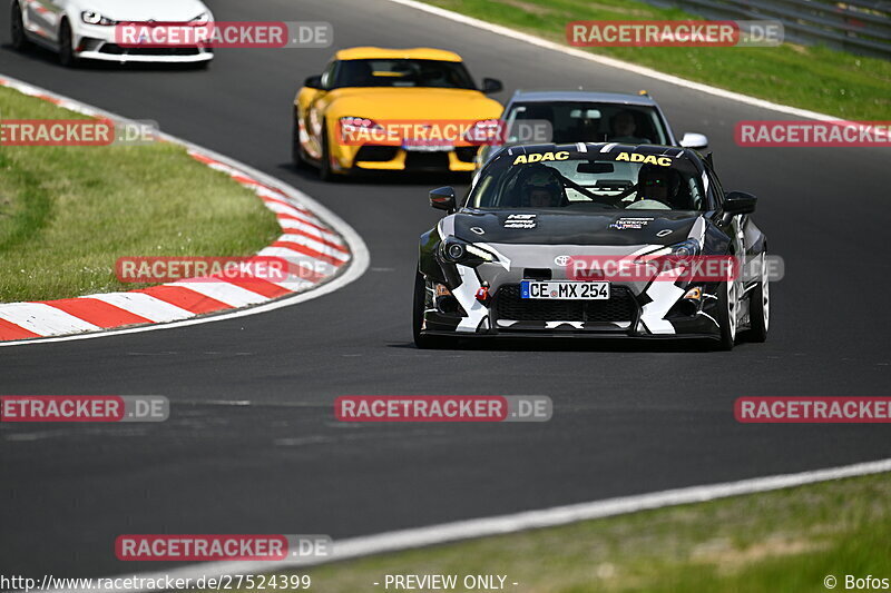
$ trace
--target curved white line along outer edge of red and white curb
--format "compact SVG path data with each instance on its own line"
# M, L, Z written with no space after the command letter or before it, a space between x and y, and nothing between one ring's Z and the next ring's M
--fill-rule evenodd
M18 90L28 89L31 93L39 93L46 95L47 97L53 97L56 99L69 101L74 108L72 111L77 111L80 113L85 113L88 116L94 117L105 117L108 119L112 119L116 121L131 121L128 118L118 116L110 111L106 111L104 109L99 109L97 107L88 106L86 103L81 103L79 101L75 101L74 99L69 99L67 97L61 97L50 90L45 89L37 89L36 87L28 85L21 80L16 78L0 75L11 88L17 88ZM239 317L247 317L249 315L260 315L262 313L267 313L271 310L291 307L293 305L297 305L300 303L304 303L306 300L312 300L314 298L319 298L325 295L329 295L340 288L343 288L350 283L362 277L365 274L365 270L369 268L369 264L371 261L371 256L369 254L369 248L365 245L365 241L362 240L362 237L349 225L345 220L340 218L335 215L332 210L327 207L323 206L321 202L316 201L315 199L311 198L307 194L304 194L300 189L285 184L281 179L276 179L271 175L266 175L265 172L257 170L248 165L239 162L235 159L221 155L214 150L200 147L196 144L189 142L188 140L183 140L182 138L177 138L176 136L170 136L169 134L160 132L158 135L159 138L166 140L168 142L178 144L185 147L187 150L192 150L195 152L199 152L203 157L209 158L212 160L216 160L221 164L228 165L229 167L234 167L239 169L244 175L247 175L264 186L267 186L273 189L281 190L288 199L294 200L302 206L305 206L309 210L311 210L317 218L317 220L324 220L324 226L330 227L333 231L337 233L343 239L346 241L346 245L350 247L350 251L352 253L352 260L349 266L344 266L341 268L336 268L334 266L329 266L325 263L320 263L321 269L331 269L333 271L339 271L340 275L333 278L325 278L322 283L314 284L313 289L307 293L296 294L293 296L282 297L276 300L267 302L263 305L258 305L255 307L251 307L247 309L241 310L233 310L229 313L216 314L209 317L196 317L190 319L183 319L180 322L172 322L168 324L158 324L158 325L147 325L143 327L129 327L127 329L107 329L105 332L95 332L90 334L78 334L72 336L56 336L56 337L47 337L47 338L32 338L32 339L22 339L17 342L0 342L0 347L8 347L8 346L33 346L38 344L48 344L55 342L74 342L79 339L96 339L96 338L105 338L109 336L119 336L125 334L141 334L144 332L158 332L163 329L172 329L175 327L187 327L190 325L202 325L202 324L209 324L216 322L224 322L227 319L235 319ZM281 219L280 219L281 220ZM290 223L290 221L288 221ZM291 251L294 254L294 251ZM297 254L294 254L297 255ZM305 259L306 256L303 256ZM314 260L317 261L317 260ZM14 322L13 322L14 323ZM98 327L96 329L99 329ZM37 333L37 332L36 332Z

